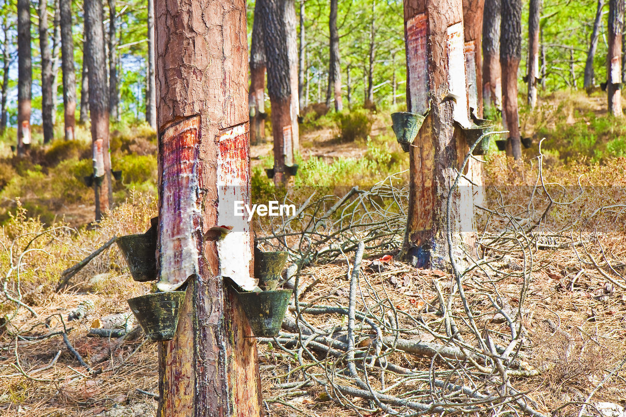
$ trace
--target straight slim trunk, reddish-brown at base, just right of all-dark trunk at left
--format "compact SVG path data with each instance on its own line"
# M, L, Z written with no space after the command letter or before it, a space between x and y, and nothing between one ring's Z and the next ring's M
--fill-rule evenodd
M72 0L59 0L61 15L61 71L63 71L63 108L65 140L76 135L76 74L74 73L74 39L72 38Z

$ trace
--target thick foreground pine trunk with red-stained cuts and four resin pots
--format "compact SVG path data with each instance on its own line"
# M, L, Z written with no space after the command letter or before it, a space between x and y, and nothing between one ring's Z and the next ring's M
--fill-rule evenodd
M233 216L233 198L250 201L245 1L155 1L155 32L158 269L188 279L178 331L159 344L157 415L259 416L255 339L223 281L252 275L250 224ZM219 239L217 225L233 232Z

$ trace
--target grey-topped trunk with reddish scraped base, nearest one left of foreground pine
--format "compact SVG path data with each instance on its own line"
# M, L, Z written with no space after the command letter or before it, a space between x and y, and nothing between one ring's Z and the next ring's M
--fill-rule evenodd
M96 193L96 221L111 208L109 91L106 86L105 34L101 0L85 0L85 60L89 76L91 150Z

